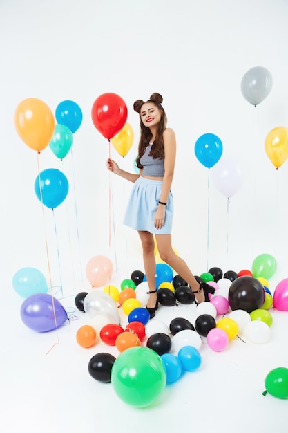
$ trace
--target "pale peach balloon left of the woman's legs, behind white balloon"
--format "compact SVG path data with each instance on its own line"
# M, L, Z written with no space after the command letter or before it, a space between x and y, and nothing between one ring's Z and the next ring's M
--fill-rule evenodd
M108 257L94 256L86 264L86 277L92 287L108 284L113 273L113 264Z

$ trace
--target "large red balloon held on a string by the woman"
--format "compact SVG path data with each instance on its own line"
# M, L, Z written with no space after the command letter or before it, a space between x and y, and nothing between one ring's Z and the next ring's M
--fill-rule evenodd
M95 128L110 140L124 127L128 110L121 96L103 93L95 100L91 116Z

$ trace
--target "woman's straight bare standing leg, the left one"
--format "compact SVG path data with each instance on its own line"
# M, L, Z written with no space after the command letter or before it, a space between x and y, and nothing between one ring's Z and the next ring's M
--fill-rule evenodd
M155 273L156 273L156 261L155 261L155 243L153 234L150 232L139 231L139 236L142 242L143 250L143 262L146 273L146 278L149 286L149 291L156 290L155 284ZM149 300L147 303L148 308L154 308L157 301L157 293L150 293Z

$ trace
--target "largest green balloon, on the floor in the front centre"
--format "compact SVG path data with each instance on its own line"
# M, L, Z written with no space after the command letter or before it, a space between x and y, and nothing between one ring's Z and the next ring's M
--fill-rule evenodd
M160 356L148 347L131 347L115 360L111 383L117 396L134 407L146 407L166 387L166 369Z

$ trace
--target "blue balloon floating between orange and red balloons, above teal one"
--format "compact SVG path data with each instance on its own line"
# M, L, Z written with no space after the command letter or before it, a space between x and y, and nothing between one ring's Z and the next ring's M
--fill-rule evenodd
M80 127L83 115L76 102L66 100L57 105L55 118L59 124L65 125L74 133Z

